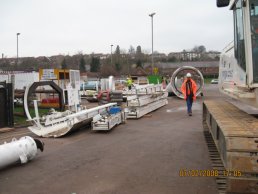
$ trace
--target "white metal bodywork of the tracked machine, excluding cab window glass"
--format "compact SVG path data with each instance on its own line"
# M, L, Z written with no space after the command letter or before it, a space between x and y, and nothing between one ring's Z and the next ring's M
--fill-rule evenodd
M230 1L230 9L234 11L235 5L239 0ZM220 90L251 106L258 106L258 83L253 83L253 57L252 40L250 26L250 0L243 0L246 6L243 10L243 31L245 44L246 71L244 71L235 58L234 43L227 46L220 60ZM235 28L235 26L234 26ZM236 38L236 37L234 37ZM225 73L225 75L223 75ZM231 77L227 76L231 73Z

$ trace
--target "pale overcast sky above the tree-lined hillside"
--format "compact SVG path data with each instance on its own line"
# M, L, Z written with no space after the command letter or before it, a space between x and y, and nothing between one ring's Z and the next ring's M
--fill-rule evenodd
M229 8L215 0L0 0L0 53L19 56L110 53L141 45L164 52L204 45L221 51L233 40ZM114 48L113 47L113 48Z

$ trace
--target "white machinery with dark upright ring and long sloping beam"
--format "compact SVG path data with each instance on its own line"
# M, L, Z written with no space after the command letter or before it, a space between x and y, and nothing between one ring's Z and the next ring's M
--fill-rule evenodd
M29 112L28 98L33 90L38 86L50 85L60 93L60 103L63 104L63 91L64 102L67 105L68 110L57 112L54 109L50 109L49 114L40 116L38 110L37 100L33 100L35 117L32 118ZM109 103L106 105L94 107L91 109L85 109L79 104L79 90L71 87L70 84L66 86L66 89L61 90L54 82L35 82L32 85L27 86L24 93L24 110L28 121L31 121L33 126L28 127L30 131L38 136L42 137L60 137L75 129L90 124L93 117L96 115L107 115L110 108L116 106L116 103ZM61 106L62 107L62 106ZM113 120L113 117L107 117ZM109 120L109 119L108 119ZM113 126L108 125L107 128L111 129Z

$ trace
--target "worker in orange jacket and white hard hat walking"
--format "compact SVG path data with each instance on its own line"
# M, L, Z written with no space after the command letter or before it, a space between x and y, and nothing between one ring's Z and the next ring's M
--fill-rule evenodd
M191 73L186 74L186 80L183 82L181 91L184 95L184 99L187 104L187 113L192 116L192 104L193 100L196 100L197 85L195 81L191 78Z

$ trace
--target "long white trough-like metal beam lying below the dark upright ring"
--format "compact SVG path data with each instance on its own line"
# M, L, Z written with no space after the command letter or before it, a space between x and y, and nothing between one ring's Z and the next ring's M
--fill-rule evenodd
M90 109L71 112L57 112L52 110L48 115L39 116L37 101L34 101L35 114L34 118L26 111L29 121L33 122L33 126L28 127L30 131L42 137L61 137L71 131L90 124L96 115L106 115L109 108L116 106L116 103L109 103ZM26 106L26 105L25 105ZM113 126L112 126L113 127ZM108 129L112 128L108 126Z

